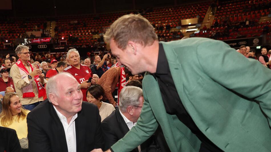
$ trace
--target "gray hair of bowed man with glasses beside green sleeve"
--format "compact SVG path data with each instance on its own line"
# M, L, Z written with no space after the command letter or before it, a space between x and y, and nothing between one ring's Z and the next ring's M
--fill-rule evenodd
M139 87L128 86L120 91L119 109L126 112L128 106L139 106L139 97L143 96L142 89Z

